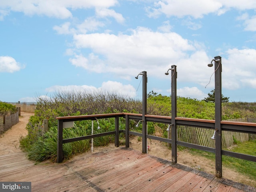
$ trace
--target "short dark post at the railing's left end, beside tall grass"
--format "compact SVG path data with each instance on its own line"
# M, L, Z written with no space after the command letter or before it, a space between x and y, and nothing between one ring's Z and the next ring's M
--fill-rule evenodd
M63 160L63 120L58 119L57 163Z

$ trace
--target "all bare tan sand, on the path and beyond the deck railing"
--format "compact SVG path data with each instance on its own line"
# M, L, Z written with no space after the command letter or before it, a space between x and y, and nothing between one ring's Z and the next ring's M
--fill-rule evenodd
M21 152L19 148L19 140L21 136L26 136L28 131L26 130L26 124L30 116L33 113L21 112L20 121L18 124L12 126L9 130L4 132L0 136L0 156L9 153ZM130 148L134 150L142 150L142 142L138 140L138 137L133 136L130 139ZM165 143L149 140L148 139L149 151L148 154L157 156L166 160L171 161L171 150L167 148ZM114 144L110 144L105 147L94 147L94 153L99 151L110 151L115 150ZM24 154L25 155L25 154ZM178 150L178 163L204 172L215 174L215 162L201 156L194 156L188 152L188 150ZM250 180L247 176L244 176L238 172L222 167L222 176L235 182L240 182L250 186L256 187L256 181Z

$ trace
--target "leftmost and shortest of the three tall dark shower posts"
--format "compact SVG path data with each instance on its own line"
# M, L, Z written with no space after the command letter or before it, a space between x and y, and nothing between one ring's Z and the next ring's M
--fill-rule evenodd
M145 115L147 114L147 72L142 72L142 153L147 153L147 122Z

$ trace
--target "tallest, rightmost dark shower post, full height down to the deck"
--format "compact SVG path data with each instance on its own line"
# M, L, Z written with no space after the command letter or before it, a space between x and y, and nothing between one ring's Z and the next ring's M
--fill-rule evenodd
M214 57L215 71L215 168L216 177L222 177L222 130L220 122L222 120L222 92L221 92L221 57Z

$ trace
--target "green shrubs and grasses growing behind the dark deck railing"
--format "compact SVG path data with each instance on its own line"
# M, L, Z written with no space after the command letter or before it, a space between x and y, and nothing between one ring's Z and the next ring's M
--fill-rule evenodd
M170 96L162 96L155 92L150 92L147 98L147 113L152 115L170 116L171 114L171 98ZM35 115L30 117L30 122L36 124L44 119L49 119L49 131L37 140L32 140L28 136L21 138L20 146L28 153L28 158L35 161L51 160L56 162L57 154L57 121L56 116L74 116L87 114L106 114L117 112L142 113L142 101L119 96L109 93L88 94L84 92L78 93L57 93L51 99L40 98L37 101ZM177 98L177 116L186 118L214 119L214 103L204 100L196 100L192 98ZM250 118L256 119L256 103L244 102L226 102L222 104L222 119L233 118ZM107 132L114 130L114 118L100 119L101 129L97 129L98 124L94 123L94 134L99 132ZM125 120L120 119L120 129L125 129ZM135 126L137 122L130 121L130 127L136 132L141 132L141 124L138 128ZM31 127L27 126L28 131ZM166 125L155 124L148 122L148 134L167 137ZM64 138L73 138L91 134L92 121L76 122L74 128L64 129ZM104 136L94 138L94 146L104 146L114 142L114 136ZM124 143L123 135L120 137L120 142ZM255 141L250 141L255 144ZM247 143L248 145L249 143ZM72 142L63 145L64 159L70 158L73 154L85 152L90 149L90 140ZM255 146L252 145L253 149ZM244 150L243 150L244 151ZM253 151L253 150L252 150ZM206 154L209 158L214 154ZM254 150L254 154L255 150ZM229 159L224 157L226 166L235 166L238 170L238 165L242 164L239 160ZM251 163L251 162L250 162ZM255 168L255 164L245 163L244 166ZM242 170L246 170L242 168ZM252 168L249 168L252 170ZM249 171L250 172L250 171ZM255 176L255 177L254 177ZM252 177L256 179L256 174L252 172Z

